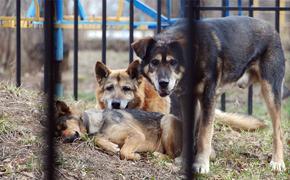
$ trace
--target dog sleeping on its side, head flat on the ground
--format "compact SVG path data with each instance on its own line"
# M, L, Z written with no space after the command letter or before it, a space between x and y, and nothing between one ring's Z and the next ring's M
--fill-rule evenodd
M97 146L127 160L139 160L138 152L160 152L173 158L181 152L181 121L173 115L135 109L89 110L80 118L64 102L57 101L56 106L57 130L66 142L86 132L94 134Z

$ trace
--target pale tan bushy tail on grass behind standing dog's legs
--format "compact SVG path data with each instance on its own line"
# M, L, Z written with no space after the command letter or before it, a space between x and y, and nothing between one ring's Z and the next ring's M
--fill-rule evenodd
M218 109L215 110L215 120L220 124L228 125L236 130L254 131L267 127L263 121L253 116L237 113L226 113Z

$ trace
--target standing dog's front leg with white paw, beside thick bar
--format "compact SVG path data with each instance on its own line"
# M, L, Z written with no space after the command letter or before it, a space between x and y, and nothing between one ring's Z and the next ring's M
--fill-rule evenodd
M201 97L201 116L199 122L197 154L193 163L193 170L197 173L209 172L209 158L211 154L211 140L213 136L213 120L215 109L215 82L207 83Z

